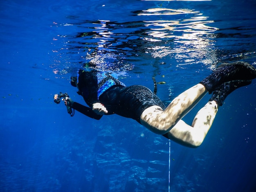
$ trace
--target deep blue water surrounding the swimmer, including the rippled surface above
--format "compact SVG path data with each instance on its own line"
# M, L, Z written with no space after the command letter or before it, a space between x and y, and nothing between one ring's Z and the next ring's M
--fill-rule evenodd
M252 192L256 80L225 100L196 149L117 115L67 114L84 104L70 76L112 71L168 104L218 64L256 67L255 0L5 0L0 2L0 191ZM184 118L191 123L209 95Z

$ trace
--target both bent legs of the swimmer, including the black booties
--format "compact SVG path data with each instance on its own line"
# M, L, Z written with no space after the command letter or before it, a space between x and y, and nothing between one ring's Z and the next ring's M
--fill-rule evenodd
M177 96L163 110L159 106L148 107L141 114L140 122L156 134L180 144L197 147L211 128L218 106L232 91L249 85L256 78L256 69L245 62L221 64L210 76ZM191 126L181 119L208 92L213 92L210 101L196 114ZM218 103L218 104L217 104Z

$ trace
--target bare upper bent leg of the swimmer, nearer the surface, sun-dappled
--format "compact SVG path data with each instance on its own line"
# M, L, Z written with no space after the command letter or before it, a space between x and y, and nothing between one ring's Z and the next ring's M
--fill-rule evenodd
M148 107L141 114L140 122L156 134L165 134L169 132L206 93L207 89L204 85L197 84L177 96L164 111L159 106Z

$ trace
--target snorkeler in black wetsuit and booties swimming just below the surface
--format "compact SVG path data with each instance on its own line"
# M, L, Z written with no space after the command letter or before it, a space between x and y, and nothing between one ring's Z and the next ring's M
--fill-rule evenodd
M132 85L126 87L110 74L79 70L71 84L78 88L89 107L65 97L65 105L94 119L103 114L118 114L135 119L150 131L188 147L198 147L204 141L219 106L235 89L249 85L256 78L256 69L245 62L223 63L200 83L177 96L167 107L150 89ZM209 101L195 115L192 125L182 118L204 97Z

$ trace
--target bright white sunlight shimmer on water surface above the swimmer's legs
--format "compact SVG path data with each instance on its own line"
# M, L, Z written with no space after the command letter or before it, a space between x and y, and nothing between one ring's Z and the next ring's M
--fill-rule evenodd
M149 16L149 19L163 16L165 18L163 20L144 20L144 25L150 28L146 33L154 40L171 40L175 44L174 47L161 46L160 49L158 45L147 47L152 50L150 52L154 58L175 55L175 58L180 59L186 54L189 58L183 61L191 63L195 58L203 59L207 53L212 52L211 48L214 47L215 42L213 33L218 28L209 26L214 21L203 16L200 11L157 7L143 10L138 16ZM170 19L166 20L166 18Z

